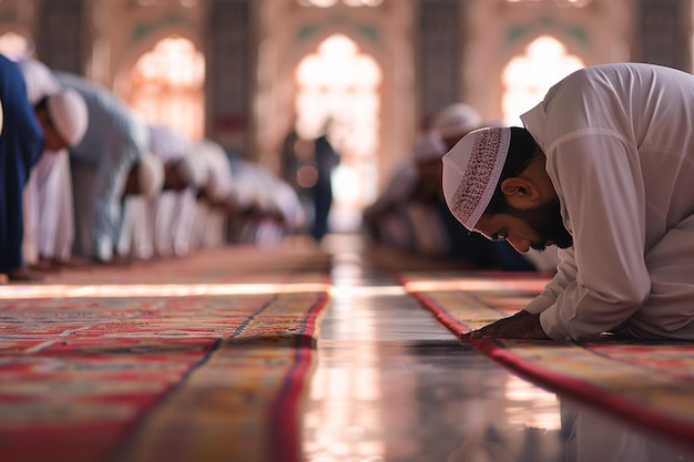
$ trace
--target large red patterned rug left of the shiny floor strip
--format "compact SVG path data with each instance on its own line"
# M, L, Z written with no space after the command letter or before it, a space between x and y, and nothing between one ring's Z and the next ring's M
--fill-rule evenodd
M328 270L290 242L0 286L0 460L298 461Z

